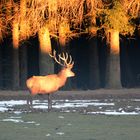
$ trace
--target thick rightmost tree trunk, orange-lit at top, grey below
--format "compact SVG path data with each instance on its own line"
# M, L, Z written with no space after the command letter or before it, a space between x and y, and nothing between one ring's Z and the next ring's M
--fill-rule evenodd
M119 31L109 33L106 88L121 88Z

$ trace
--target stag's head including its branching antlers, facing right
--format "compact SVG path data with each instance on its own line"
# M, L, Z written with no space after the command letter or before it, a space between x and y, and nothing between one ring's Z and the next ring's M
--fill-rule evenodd
M56 63L62 66L62 70L59 72L59 74L65 75L66 77L75 76L75 73L71 71L74 65L71 55L68 55L68 53L62 53L58 55L57 59L55 50L49 55L55 60Z

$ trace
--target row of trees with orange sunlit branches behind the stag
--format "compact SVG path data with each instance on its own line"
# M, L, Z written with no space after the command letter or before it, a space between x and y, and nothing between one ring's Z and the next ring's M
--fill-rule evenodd
M12 88L25 88L26 78L30 76L29 60L32 58L29 58L29 54L30 51L33 51L33 49L29 51L30 47L28 46L36 46L38 52L35 57L35 60L39 61L37 63L37 74L46 75L59 69L56 68L57 66L48 56L48 53L53 48L56 48L58 52L69 51L73 53L75 60L78 61L80 59L78 58L80 57L80 49L75 45L75 40L79 38L80 42L88 34L92 38L89 39L88 44L92 47L85 49L85 52L89 55L81 52L83 53L81 57L86 56L89 61L81 59L83 60L83 65L84 62L85 64L89 63L87 65L88 70L85 71L85 73L89 71L87 79L89 87L101 87L100 81L102 80L104 81L104 87L122 88L121 78L123 76L121 69L124 65L120 63L122 52L120 49L123 48L121 45L124 45L124 42L129 41L121 42L120 36L122 35L122 38L139 37L139 5L139 0L1 1L1 46L7 48L1 47L0 72L3 75L4 68L11 68L12 74L9 77L12 79ZM37 39L36 45L31 45L32 40L35 41L32 38ZM9 45L9 42L12 42L11 45ZM100 43L98 42L104 42L106 47L100 48ZM81 44L78 45L80 46ZM101 51L99 51L100 49ZM104 53L102 52L103 50ZM9 52L11 53L8 54ZM98 55L99 52L102 55ZM101 63L101 59L98 57L105 58L103 60L105 63ZM8 59L11 62L8 63L9 66L6 66ZM78 63L75 65L80 65ZM103 67L104 72L101 71L102 65L105 65ZM80 66L76 66L75 69L77 73L82 71ZM105 73L104 78L100 77L100 75L103 75L102 72ZM8 77L7 75L1 76L1 85L9 82L4 82L6 79L4 77ZM131 74L128 75L130 76ZM71 83L73 82L70 81L68 84L71 85Z

